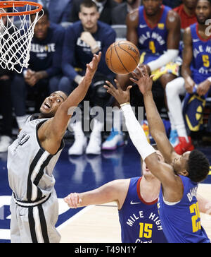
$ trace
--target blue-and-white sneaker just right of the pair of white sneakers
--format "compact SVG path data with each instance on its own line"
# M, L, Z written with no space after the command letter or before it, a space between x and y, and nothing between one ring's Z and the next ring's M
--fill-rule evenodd
M124 145L124 138L122 136L122 133L119 131L115 131L112 128L112 131L110 132L110 136L108 136L106 141L103 142L102 149L115 150L122 145Z

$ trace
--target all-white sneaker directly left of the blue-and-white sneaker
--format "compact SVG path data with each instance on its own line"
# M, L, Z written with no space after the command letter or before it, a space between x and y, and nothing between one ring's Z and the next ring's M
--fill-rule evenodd
M100 155L101 154L101 133L91 133L89 144L87 145L87 155Z

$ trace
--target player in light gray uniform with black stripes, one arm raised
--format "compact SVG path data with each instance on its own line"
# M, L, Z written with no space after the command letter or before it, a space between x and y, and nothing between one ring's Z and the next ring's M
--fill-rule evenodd
M8 148L13 243L60 241L55 227L58 200L53 168L63 150L63 136L74 107L87 94L100 59L101 52L94 54L84 79L70 96L57 91L47 97L38 119L30 119Z

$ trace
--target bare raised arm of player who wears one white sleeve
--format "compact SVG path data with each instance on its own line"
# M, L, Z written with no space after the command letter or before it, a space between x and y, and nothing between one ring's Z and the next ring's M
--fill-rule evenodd
M178 155L175 153L174 148L167 138L165 126L153 100L153 76L148 76L146 66L143 66L143 72L138 67L136 68L136 72L133 72L132 74L134 78L136 78L131 78L132 82L139 86L139 90L143 94L146 116L151 131L151 136L154 138L156 144L158 145L158 149L165 158L165 161L169 164L172 164L174 159L178 158Z

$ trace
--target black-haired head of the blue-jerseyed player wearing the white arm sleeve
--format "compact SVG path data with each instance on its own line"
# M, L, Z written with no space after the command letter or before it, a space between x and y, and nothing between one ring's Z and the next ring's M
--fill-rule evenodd
M209 174L210 162L199 150L193 150L180 155L178 159L174 160L174 170L177 174L199 183Z

